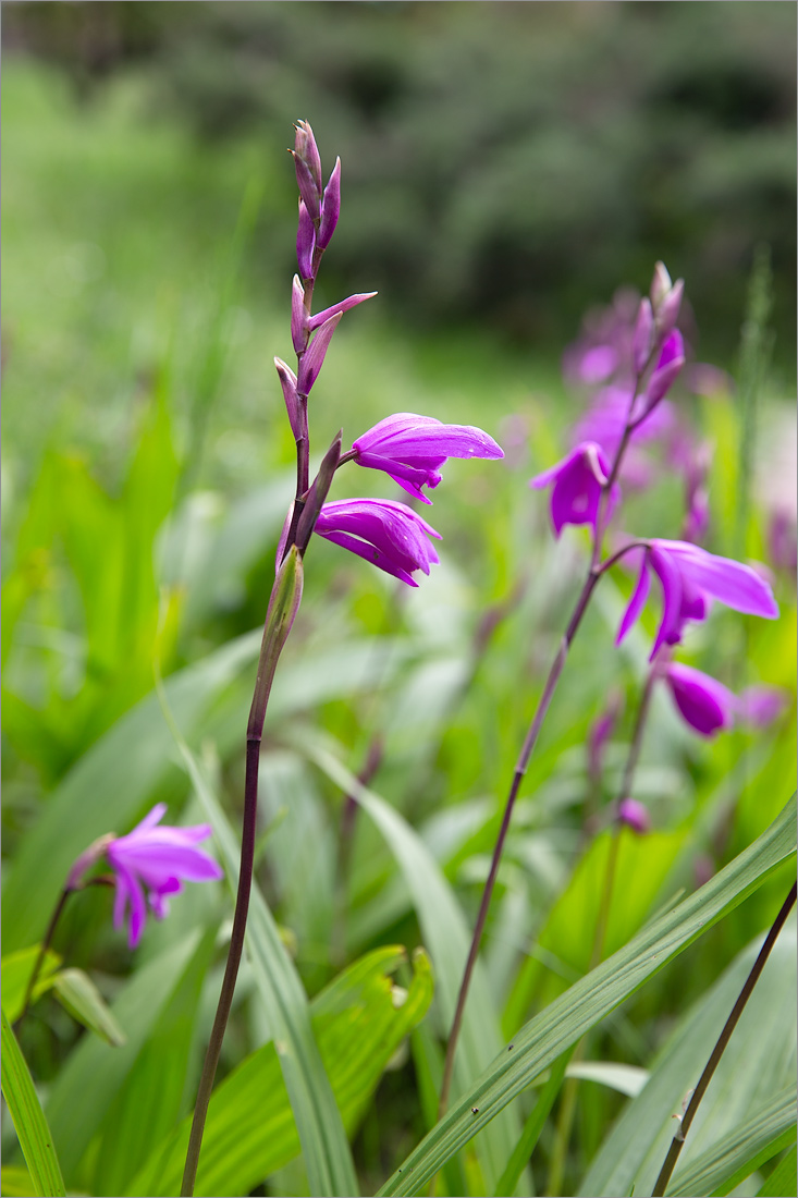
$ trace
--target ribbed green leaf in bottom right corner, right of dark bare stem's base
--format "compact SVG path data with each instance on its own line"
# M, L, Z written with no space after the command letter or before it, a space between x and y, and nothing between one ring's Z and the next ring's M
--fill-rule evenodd
M669 1198L727 1194L796 1139L796 1087L790 1085L760 1107L721 1143L694 1157L671 1179Z

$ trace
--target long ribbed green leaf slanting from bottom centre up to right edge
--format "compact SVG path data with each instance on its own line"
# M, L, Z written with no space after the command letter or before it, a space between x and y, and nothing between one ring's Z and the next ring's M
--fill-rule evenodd
M794 845L793 797L775 823L701 890L643 927L629 944L525 1024L512 1048L506 1048L472 1083L470 1093L403 1162L401 1172L391 1175L380 1194L418 1193L453 1152L561 1053L756 890L794 853ZM472 1113L474 1107L477 1115Z

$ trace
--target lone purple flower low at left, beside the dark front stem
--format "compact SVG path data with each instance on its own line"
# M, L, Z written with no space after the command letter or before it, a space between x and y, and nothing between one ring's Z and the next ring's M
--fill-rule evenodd
M114 927L122 926L129 906L128 945L132 949L141 938L147 902L156 919L163 919L169 912L169 895L180 894L183 882L213 882L224 876L220 866L197 848L200 840L211 835L211 825L157 827L165 813L167 804L157 803L133 831L111 840L105 848L116 875Z

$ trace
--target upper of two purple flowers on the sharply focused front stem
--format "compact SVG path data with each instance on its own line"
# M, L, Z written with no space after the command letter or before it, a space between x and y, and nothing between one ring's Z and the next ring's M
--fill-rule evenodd
M352 442L358 466L383 470L422 503L431 503L422 486L441 482L447 458L503 458L492 437L470 424L442 424L431 416L397 412Z

